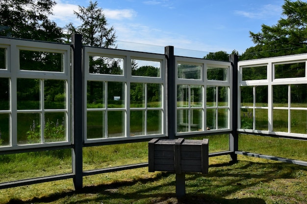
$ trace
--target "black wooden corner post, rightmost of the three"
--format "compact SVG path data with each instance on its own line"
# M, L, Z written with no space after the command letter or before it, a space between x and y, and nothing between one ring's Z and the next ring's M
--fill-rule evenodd
M238 55L231 54L229 56L229 61L232 66L232 133L229 134L229 148L232 153L230 158L233 162L238 160L235 151L238 151Z

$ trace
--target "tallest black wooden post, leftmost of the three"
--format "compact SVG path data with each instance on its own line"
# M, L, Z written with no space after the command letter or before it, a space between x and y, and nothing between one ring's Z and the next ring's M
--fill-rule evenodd
M83 144L83 71L82 35L72 35L73 44L73 173L75 189L82 189L82 144Z

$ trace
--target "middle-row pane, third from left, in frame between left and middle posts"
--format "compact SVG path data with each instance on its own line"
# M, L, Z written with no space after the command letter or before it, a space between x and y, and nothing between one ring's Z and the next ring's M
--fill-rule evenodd
M145 84L131 83L130 84L130 108L145 107Z

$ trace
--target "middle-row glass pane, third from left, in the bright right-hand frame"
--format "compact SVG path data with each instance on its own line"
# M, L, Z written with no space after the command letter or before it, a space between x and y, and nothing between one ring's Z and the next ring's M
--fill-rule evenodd
M288 85L273 86L273 106L288 107Z

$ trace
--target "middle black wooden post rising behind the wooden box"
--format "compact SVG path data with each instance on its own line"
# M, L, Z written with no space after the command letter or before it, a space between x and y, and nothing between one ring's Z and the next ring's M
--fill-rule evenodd
M166 101L167 101L167 113L166 113L166 124L167 124L167 136L170 139L175 139L175 116L176 116L176 98L175 98L175 56L174 56L174 46L165 47L166 55Z

